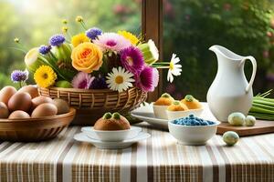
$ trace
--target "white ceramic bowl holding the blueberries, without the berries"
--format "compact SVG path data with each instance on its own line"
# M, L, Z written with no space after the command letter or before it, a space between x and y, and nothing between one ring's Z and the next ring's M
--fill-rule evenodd
M206 141L216 135L217 126L220 122L209 126L181 126L168 122L169 132L178 140L179 144L185 146L205 145Z

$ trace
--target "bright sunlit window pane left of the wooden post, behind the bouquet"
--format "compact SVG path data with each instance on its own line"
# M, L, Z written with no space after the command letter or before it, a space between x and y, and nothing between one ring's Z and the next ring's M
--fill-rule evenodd
M77 15L88 27L141 33L139 0L0 0L0 6L0 87L12 84L12 70L25 69L24 54L11 48L17 46L15 37L26 49L45 45L51 35L61 33L62 19L68 20L70 35L84 32L75 22Z

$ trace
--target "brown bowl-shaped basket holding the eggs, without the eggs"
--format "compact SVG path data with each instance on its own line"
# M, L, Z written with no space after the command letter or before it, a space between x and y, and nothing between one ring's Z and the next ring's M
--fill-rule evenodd
M73 120L75 109L57 116L38 118L0 119L0 140L12 142L38 142L52 139Z

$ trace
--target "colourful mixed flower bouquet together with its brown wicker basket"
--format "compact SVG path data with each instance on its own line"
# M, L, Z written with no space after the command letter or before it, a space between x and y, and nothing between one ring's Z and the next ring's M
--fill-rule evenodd
M90 125L105 112L126 113L139 106L158 85L157 68L169 68L171 82L181 74L175 55L171 62L159 62L153 40L144 42L127 31L88 29L81 16L76 21L82 33L71 36L64 20L62 34L27 51L25 63L40 95L65 99L77 108L78 125Z

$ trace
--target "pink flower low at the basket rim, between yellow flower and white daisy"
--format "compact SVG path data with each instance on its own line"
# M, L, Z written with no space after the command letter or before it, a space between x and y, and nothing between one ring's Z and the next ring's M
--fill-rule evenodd
M93 76L91 77L87 73L79 72L76 76L73 77L71 85L74 88L89 89L93 80Z

